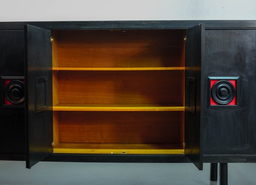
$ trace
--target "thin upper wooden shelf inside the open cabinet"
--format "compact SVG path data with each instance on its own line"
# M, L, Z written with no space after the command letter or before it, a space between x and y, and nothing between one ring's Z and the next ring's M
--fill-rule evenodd
M185 67L159 68L52 68L54 71L154 71L154 70L185 70Z

